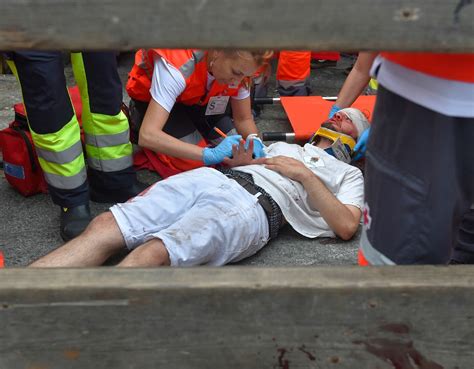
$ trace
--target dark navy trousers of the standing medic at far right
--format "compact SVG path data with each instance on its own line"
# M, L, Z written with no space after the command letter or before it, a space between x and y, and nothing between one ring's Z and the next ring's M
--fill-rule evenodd
M456 154L463 121L380 86L367 150L360 249L369 264L449 261L461 215L470 206L463 200Z

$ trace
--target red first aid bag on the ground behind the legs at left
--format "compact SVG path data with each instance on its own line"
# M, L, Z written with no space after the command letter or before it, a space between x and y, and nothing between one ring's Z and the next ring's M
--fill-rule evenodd
M69 88L76 116L80 121L81 98L77 87ZM15 120L0 131L3 171L8 183L23 196L47 193L48 186L28 129L23 104L15 104Z

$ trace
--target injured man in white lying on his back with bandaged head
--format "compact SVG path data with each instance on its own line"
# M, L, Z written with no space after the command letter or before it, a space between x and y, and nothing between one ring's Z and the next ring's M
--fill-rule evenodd
M252 158L253 141L233 148L226 167L199 168L150 186L97 216L33 267L224 265L258 252L289 223L309 238L350 239L363 205L361 171L350 165L369 123L339 111L304 146L277 142Z

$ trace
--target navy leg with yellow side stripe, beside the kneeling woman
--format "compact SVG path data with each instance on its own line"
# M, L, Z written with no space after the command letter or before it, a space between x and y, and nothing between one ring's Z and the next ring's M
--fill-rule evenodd
M124 202L146 186L136 180L127 117L122 112L122 83L114 52L73 53L74 76L83 102L91 199Z

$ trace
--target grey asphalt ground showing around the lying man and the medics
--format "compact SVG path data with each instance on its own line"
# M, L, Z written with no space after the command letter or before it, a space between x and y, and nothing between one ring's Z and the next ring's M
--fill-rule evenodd
M131 54L123 54L119 60L122 80L133 61ZM336 67L312 70L313 95L336 96L346 78L345 69L351 64L350 57L343 57ZM70 67L65 68L68 83L73 84ZM270 93L274 94L274 82ZM124 91L124 100L128 103ZM0 75L0 129L13 120L13 104L21 101L19 87L12 75ZM278 105L264 107L257 126L263 131L290 132L286 115ZM148 183L157 180L150 172L141 171L139 178ZM91 203L94 215L107 210L110 205ZM286 226L280 236L271 241L257 255L241 265L294 266L316 264L356 264L360 230L348 242L340 239L306 239ZM6 266L25 266L62 244L59 236L59 209L48 195L24 198L9 186L0 171L0 251Z

